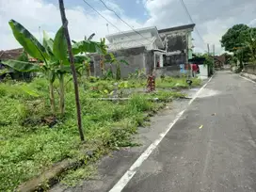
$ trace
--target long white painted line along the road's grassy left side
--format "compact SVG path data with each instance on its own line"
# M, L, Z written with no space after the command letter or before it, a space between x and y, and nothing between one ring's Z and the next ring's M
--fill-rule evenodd
M206 84L204 84L199 89L199 91L194 95L194 97L190 100L187 106L192 104L195 101L195 99L197 99L197 97L200 94L200 91L207 86L207 84L212 80L212 78L213 76L206 82ZM126 186L126 184L130 182L130 180L135 176L137 168L139 168L142 165L142 163L151 155L153 150L159 145L163 138L167 136L169 130L173 127L173 125L178 120L180 120L180 118L184 115L185 110L186 108L176 116L175 120L172 120L168 124L168 128L166 129L166 131L161 133L159 137L156 140L154 140L152 144L147 148L147 150L140 154L140 156L136 159L136 162L124 173L124 175L120 178L120 181L117 184L115 184L112 187L112 189L109 190L109 192L120 192Z

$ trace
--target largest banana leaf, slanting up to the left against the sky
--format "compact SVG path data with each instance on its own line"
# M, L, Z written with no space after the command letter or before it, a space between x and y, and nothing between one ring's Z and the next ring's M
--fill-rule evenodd
M10 20L8 24L16 40L24 47L24 51L29 55L40 60L48 58L45 48L22 24Z

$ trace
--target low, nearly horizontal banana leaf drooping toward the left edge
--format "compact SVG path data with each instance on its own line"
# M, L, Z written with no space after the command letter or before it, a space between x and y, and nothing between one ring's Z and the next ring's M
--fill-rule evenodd
M40 72L39 64L32 64L19 60L2 61L2 63L18 72Z

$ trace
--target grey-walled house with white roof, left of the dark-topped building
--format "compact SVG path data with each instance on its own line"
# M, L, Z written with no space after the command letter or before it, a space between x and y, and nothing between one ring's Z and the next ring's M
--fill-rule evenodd
M128 66L121 65L121 76L127 77L129 73L136 70L145 69L148 73L153 69L153 52L164 50L164 43L161 40L155 26L124 31L106 36L108 52L111 52L118 59L124 59L129 63ZM93 61L95 75L100 76L100 56L94 55ZM106 70L112 67L115 71L115 65L106 64Z

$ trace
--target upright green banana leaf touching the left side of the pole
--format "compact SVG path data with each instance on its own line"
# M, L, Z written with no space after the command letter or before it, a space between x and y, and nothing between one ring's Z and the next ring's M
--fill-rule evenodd
M56 32L54 40L54 55L57 59L64 61L68 56L68 45L64 34L64 28L61 26Z

